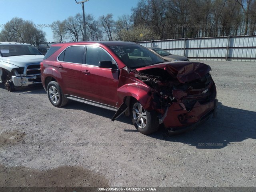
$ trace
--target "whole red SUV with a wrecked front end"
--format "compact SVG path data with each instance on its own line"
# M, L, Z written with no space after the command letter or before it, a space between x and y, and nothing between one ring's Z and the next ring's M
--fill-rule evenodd
M41 78L56 107L68 99L130 115L142 134L160 124L175 134L216 114L216 87L210 66L166 62L132 42L54 44L41 62Z

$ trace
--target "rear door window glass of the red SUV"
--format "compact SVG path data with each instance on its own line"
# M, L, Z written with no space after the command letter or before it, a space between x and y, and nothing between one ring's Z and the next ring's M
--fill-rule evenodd
M49 52L49 51L48 51ZM72 46L66 48L62 54L58 57L59 61L69 63L83 63L84 46Z

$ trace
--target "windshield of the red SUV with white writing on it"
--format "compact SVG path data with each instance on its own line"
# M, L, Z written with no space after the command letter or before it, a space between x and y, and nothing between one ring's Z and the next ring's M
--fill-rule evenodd
M166 62L141 45L118 45L109 48L131 69Z

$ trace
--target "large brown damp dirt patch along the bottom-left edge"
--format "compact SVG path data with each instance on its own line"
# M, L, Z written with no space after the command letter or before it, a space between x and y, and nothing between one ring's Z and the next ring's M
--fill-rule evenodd
M0 165L0 186L74 187L108 186L108 180L86 168L62 166L52 170L36 170L23 166Z

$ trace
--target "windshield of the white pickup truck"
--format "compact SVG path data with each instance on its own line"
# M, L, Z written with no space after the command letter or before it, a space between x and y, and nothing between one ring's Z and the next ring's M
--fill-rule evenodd
M0 52L2 57L18 56L18 55L42 55L32 45L0 45Z

